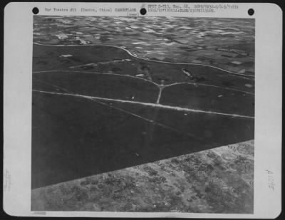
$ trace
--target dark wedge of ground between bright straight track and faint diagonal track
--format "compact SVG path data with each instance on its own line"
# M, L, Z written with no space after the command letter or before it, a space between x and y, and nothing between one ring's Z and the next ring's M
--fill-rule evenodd
M110 105L110 102L105 103ZM222 146L229 142L237 143L254 137L254 120L248 118L201 112L158 110L129 103L112 103L111 106L154 120L158 125L167 125L167 129L173 132L184 134L209 145Z

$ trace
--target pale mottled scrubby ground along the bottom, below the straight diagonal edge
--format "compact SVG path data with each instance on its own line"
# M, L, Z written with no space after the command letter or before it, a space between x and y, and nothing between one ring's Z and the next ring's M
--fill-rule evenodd
M33 189L32 211L254 211L254 140Z

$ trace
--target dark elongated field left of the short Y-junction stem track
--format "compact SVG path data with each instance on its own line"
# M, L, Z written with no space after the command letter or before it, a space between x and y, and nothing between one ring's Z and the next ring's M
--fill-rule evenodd
M123 75L93 74L93 73L66 73L50 72L33 75L33 89L43 90L46 83L50 88L45 91L61 91L66 93L90 95L102 98L116 98L140 102L155 103L158 88L145 80L124 77Z

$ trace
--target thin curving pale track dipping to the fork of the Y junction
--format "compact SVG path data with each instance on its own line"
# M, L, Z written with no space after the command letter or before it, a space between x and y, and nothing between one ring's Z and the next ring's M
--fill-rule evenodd
M93 73L93 74L101 74L101 75L118 75L118 76L125 76L125 77L130 77L130 78L136 78L139 80L144 80L147 81L149 83L152 83L154 85L157 86L157 88L165 88L165 87L169 87L172 85L180 85L180 84L189 84L189 85L202 85L202 86L209 86L212 88L219 88L219 89L224 89L224 90L232 90L232 91L237 91L237 92L241 92L241 93L247 93L250 95L254 95L254 93L249 93L247 91L243 91L243 90L237 90L234 88L224 88L224 87L220 87L217 85L208 85L208 84L203 84L203 83L172 83L172 84L168 84L168 85L160 85L158 83L153 82L152 80L148 80L146 78L139 78L133 75L126 75L126 74L117 74L117 73L98 73L98 72L91 72L91 71L76 71L76 70L42 70L42 71L34 71L33 73L50 73L50 72L63 72L63 73Z

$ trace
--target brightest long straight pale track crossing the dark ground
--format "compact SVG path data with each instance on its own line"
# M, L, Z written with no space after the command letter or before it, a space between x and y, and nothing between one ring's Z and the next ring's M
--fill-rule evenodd
M181 108L177 106L172 105L161 105L157 103L141 103L136 101L130 101L130 100L120 100L120 99L113 99L113 98L101 98L101 97L95 97L90 95L78 95L78 94L72 94L72 93L55 93L55 92L48 92L48 91L42 91L42 90L33 90L37 93L46 93L46 94L52 94L52 95L69 95L69 96L76 96L81 98L89 98L91 100L103 100L103 101L110 101L110 102L116 102L116 103L132 103L136 105L144 105L149 106L152 108L162 108L162 109L168 109L168 110L177 110L181 112L198 112L198 113L204 113L204 114L213 114L213 115L224 115L228 117L243 117L243 118L249 118L254 119L252 116L248 115L237 115L237 114L228 114L228 113L222 113L222 112L212 112L212 111L204 111L204 110L195 110L191 108Z

